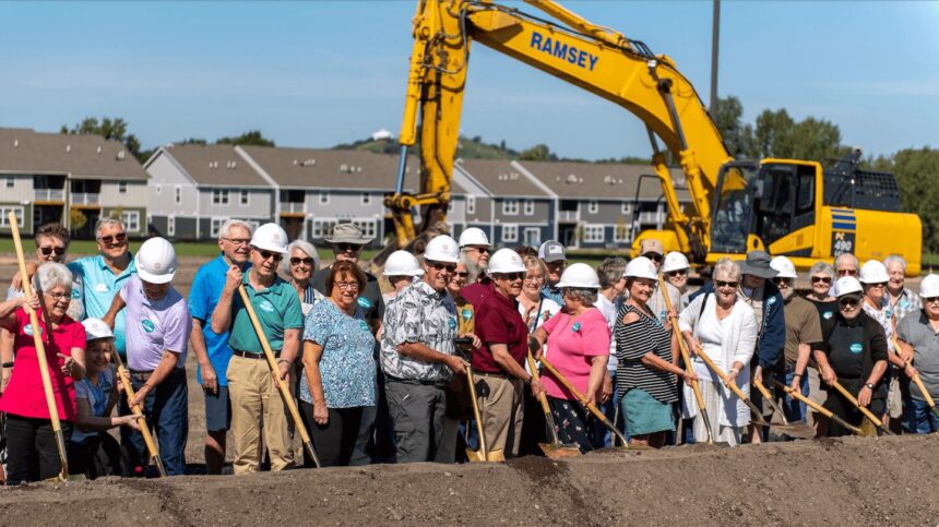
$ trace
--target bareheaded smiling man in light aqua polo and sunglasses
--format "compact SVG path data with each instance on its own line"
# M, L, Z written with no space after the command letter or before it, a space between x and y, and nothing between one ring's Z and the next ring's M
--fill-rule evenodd
M100 319L107 314L115 295L124 283L136 274L127 243L127 232L120 219L102 218L95 225L97 256L86 256L69 264L74 280L81 284L85 318ZM121 358L127 357L124 344L124 312L115 321L115 347Z

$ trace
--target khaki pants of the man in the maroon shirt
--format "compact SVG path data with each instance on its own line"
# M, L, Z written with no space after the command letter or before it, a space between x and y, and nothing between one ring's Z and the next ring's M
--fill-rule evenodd
M520 379L506 379L476 374L476 399L486 447L489 452L501 450L506 457L519 454L524 416L523 383Z

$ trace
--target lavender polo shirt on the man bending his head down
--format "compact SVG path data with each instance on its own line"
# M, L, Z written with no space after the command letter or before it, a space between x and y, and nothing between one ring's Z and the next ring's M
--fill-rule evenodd
M170 287L159 300L153 301L143 292L136 275L120 289L127 307L127 362L131 370L152 371L159 366L166 350L179 354L177 368L186 363L192 318L186 299Z

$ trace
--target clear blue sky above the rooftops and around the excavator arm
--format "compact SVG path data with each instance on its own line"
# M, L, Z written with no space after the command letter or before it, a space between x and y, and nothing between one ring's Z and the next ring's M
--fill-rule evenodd
M0 125L122 117L144 146L260 129L325 147L401 125L414 1L0 2ZM568 1L670 56L708 98L710 1ZM534 12L534 8L520 5ZM939 147L939 2L722 2L722 96L829 119L866 153ZM632 115L476 46L467 135L647 156Z

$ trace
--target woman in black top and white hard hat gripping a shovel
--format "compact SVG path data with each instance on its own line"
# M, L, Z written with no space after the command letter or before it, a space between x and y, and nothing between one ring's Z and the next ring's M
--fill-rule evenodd
M872 277L868 275L868 278ZM860 410L830 386L837 381L861 406L869 407L875 416L882 415L887 399L883 382L888 360L887 336L880 324L861 308L863 289L857 278L842 276L836 288L839 312L822 321L822 342L812 347L812 355L828 390L824 407L849 424L860 427L865 419ZM818 433L839 436L852 432L822 418Z

